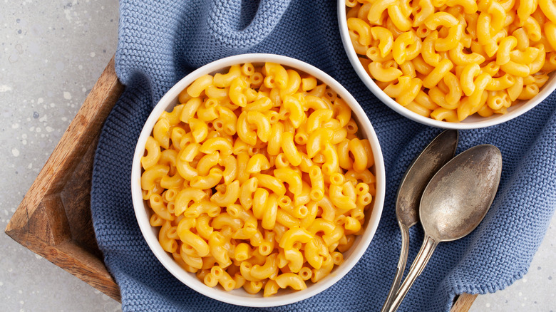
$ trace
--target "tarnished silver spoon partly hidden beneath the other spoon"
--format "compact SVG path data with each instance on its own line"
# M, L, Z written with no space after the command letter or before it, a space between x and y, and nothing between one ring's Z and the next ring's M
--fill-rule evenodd
M400 287L403 271L406 269L409 250L409 228L417 224L419 201L431 177L451 160L458 146L458 130L445 130L425 147L409 165L398 188L396 199L396 217L401 230L401 252L396 269L396 276L390 287L382 311L388 311L393 296Z

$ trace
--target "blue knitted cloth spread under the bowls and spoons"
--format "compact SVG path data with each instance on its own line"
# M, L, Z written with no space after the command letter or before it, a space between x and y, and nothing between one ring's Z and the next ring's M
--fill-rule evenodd
M118 282L124 311L254 311L192 291L164 269L140 233L130 196L135 142L150 110L180 78L225 56L264 52L321 68L362 105L381 142L386 199L379 228L359 264L305 301L269 311L377 311L396 269L401 239L394 197L403 172L440 129L383 105L351 67L336 1L121 0L116 71L126 85L96 152L91 209L98 246ZM442 243L400 311L448 311L458 293L498 291L527 272L556 204L555 95L503 125L460 131L458 152L490 143L503 155L493 206L472 234ZM409 262L423 231L411 229Z

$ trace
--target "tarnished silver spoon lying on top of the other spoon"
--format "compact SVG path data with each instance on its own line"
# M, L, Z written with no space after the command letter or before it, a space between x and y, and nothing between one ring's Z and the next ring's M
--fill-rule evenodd
M454 157L428 183L419 215L425 230L421 250L388 311L396 311L441 241L453 241L479 225L493 203L502 155L493 145L478 145Z

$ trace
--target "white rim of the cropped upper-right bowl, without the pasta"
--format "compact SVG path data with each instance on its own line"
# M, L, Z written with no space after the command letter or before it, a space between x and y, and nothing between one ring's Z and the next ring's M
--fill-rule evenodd
M344 43L344 49L346 50L349 61L351 62L351 66L354 66L359 78L363 80L363 83L365 83L367 88L369 88L369 90L371 90L376 98L379 98L382 103L388 105L389 108L395 110L397 113L400 113L401 115L418 123L446 129L475 129L498 125L499 123L504 123L505 121L516 118L534 108L538 103L547 98L547 96L550 95L550 93L552 93L552 91L556 88L556 75L551 73L547 83L543 85L539 94L535 96L535 98L530 100L518 100L518 103L514 103L510 106L510 108L508 108L508 113L505 113L504 115L494 114L490 117L480 117L479 115L474 114L465 118L465 120L461 123L448 123L446 121L423 117L417 113L413 113L413 111L408 110L407 108L404 108L402 105L396 103L396 100L393 100L393 98L386 95L386 93L384 93L383 90L376 85L374 80L365 71L363 65L361 65L357 53L355 53L354 46L351 44L351 40L349 38L345 0L338 0L338 23L340 26L341 41Z

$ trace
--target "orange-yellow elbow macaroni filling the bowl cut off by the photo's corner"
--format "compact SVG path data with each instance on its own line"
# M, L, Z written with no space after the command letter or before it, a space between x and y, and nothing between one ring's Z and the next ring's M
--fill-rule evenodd
M460 122L504 114L556 70L552 0L346 0L351 43L386 95Z

